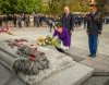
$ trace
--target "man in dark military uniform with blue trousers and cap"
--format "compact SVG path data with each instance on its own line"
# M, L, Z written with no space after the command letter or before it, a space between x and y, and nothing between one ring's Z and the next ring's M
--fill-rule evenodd
M101 35L102 31L102 19L101 15L96 12L96 5L92 4L89 7L90 13L87 17L87 35L90 52L88 57L92 58L96 57L98 37Z

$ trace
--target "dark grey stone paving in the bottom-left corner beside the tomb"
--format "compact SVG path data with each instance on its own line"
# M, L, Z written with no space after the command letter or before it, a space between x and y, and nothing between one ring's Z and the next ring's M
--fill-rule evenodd
M0 85L26 85L0 61Z

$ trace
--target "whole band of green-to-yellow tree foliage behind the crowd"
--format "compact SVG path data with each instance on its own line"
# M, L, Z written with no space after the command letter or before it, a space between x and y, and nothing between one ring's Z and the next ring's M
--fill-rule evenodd
M0 0L0 14L13 13L45 13L45 14L62 14L65 5L70 7L72 12L88 11L88 0Z

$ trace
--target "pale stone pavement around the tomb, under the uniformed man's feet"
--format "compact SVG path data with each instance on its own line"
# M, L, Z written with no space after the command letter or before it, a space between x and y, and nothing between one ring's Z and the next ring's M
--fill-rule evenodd
M28 36L28 39L35 40L38 37L50 35L52 36L53 29L50 33L48 27L24 27L24 28L11 28L12 33L15 36L25 38ZM72 34L72 44L69 51L66 51L68 56L71 56L73 60L88 65L95 69L94 76L87 80L82 85L105 85L105 83L109 80L109 26L104 25L102 34L99 37L98 45L98 54L96 58L88 58L88 39L86 35L86 29L83 28L83 25L78 28L75 28ZM35 40L36 41L36 40ZM96 81L95 80L96 75ZM97 77L98 76L98 77ZM104 77L102 77L104 76ZM99 84L99 81L104 78L104 84ZM97 82L95 84L95 82ZM92 84L90 84L92 82ZM109 81L106 85L109 85Z

